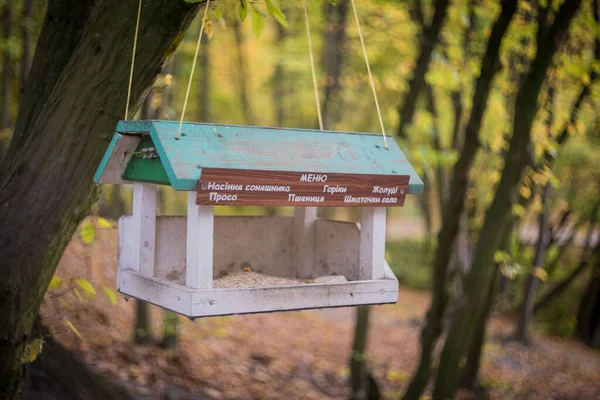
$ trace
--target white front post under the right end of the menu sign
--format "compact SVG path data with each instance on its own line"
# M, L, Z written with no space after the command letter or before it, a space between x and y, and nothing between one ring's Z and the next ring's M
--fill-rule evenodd
M383 279L385 262L385 207L364 207L360 212L360 280Z

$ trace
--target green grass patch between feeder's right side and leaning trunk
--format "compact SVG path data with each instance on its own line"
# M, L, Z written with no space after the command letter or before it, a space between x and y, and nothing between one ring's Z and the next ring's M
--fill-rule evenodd
M416 290L431 288L434 245L422 240L388 242L386 259L400 284Z

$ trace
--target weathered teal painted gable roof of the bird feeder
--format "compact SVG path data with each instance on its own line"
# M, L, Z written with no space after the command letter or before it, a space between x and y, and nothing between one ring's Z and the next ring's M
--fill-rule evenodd
M186 122L176 140L178 126L176 121L120 121L95 181L119 183L105 179L114 176L108 171L122 174L123 164L149 135L175 190L196 190L202 168L233 168L409 175L409 193L423 192L423 182L390 136L386 149L376 134ZM135 145L119 145L131 137L139 138Z

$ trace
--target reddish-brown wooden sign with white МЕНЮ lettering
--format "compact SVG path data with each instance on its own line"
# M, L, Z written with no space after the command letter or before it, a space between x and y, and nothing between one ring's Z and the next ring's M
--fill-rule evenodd
M233 206L397 207L408 175L202 168L196 204Z

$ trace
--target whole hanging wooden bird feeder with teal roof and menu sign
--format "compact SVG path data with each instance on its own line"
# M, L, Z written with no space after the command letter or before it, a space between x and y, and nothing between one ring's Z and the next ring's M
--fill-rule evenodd
M120 292L192 318L396 302L386 207L423 183L394 140L199 123L177 139L178 126L119 122L94 177L133 184L132 215L119 219ZM187 216L157 217L158 185L188 193ZM294 215L215 217L222 205ZM359 207L360 223L319 219L317 207ZM286 284L220 287L234 270Z

